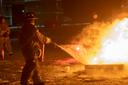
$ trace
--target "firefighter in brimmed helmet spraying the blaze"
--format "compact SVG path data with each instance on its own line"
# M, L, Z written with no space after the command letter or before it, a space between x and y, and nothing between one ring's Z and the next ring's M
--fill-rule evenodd
M29 85L30 77L33 80L33 85L44 85L39 69L44 58L45 44L50 43L51 39L44 36L36 28L37 19L33 12L26 13L24 24L20 30L19 41L25 58L21 85Z

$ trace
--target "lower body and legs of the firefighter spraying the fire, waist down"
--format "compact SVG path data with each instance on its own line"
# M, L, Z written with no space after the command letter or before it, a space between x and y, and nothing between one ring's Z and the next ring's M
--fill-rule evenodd
M23 55L25 57L25 66L21 75L21 85L29 85L29 79L32 78L34 85L44 85L41 78L41 64L40 56L42 52L38 52L38 48L33 50L25 48L23 50Z

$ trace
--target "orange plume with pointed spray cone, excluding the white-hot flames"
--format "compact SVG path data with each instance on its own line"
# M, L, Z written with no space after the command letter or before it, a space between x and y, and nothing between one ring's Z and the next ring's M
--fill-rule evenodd
M73 44L59 45L59 47L79 62L89 64L99 51L102 37L109 32L109 29L110 26L106 23L89 25L83 28L80 35L76 36L76 39L72 41Z

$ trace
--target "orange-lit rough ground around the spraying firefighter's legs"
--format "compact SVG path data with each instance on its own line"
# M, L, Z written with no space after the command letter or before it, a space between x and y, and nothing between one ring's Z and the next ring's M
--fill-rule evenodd
M12 46L14 55L0 60L0 85L20 85L24 59L15 40ZM87 73L85 65L53 45L46 46L45 61L41 70L46 85L128 85L126 75L115 77L118 72L108 75L109 77Z

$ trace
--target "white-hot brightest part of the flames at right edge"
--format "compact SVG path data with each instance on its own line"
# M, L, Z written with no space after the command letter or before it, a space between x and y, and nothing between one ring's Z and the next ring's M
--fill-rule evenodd
M90 63L128 63L128 18L114 24L111 32L102 40L101 49Z

